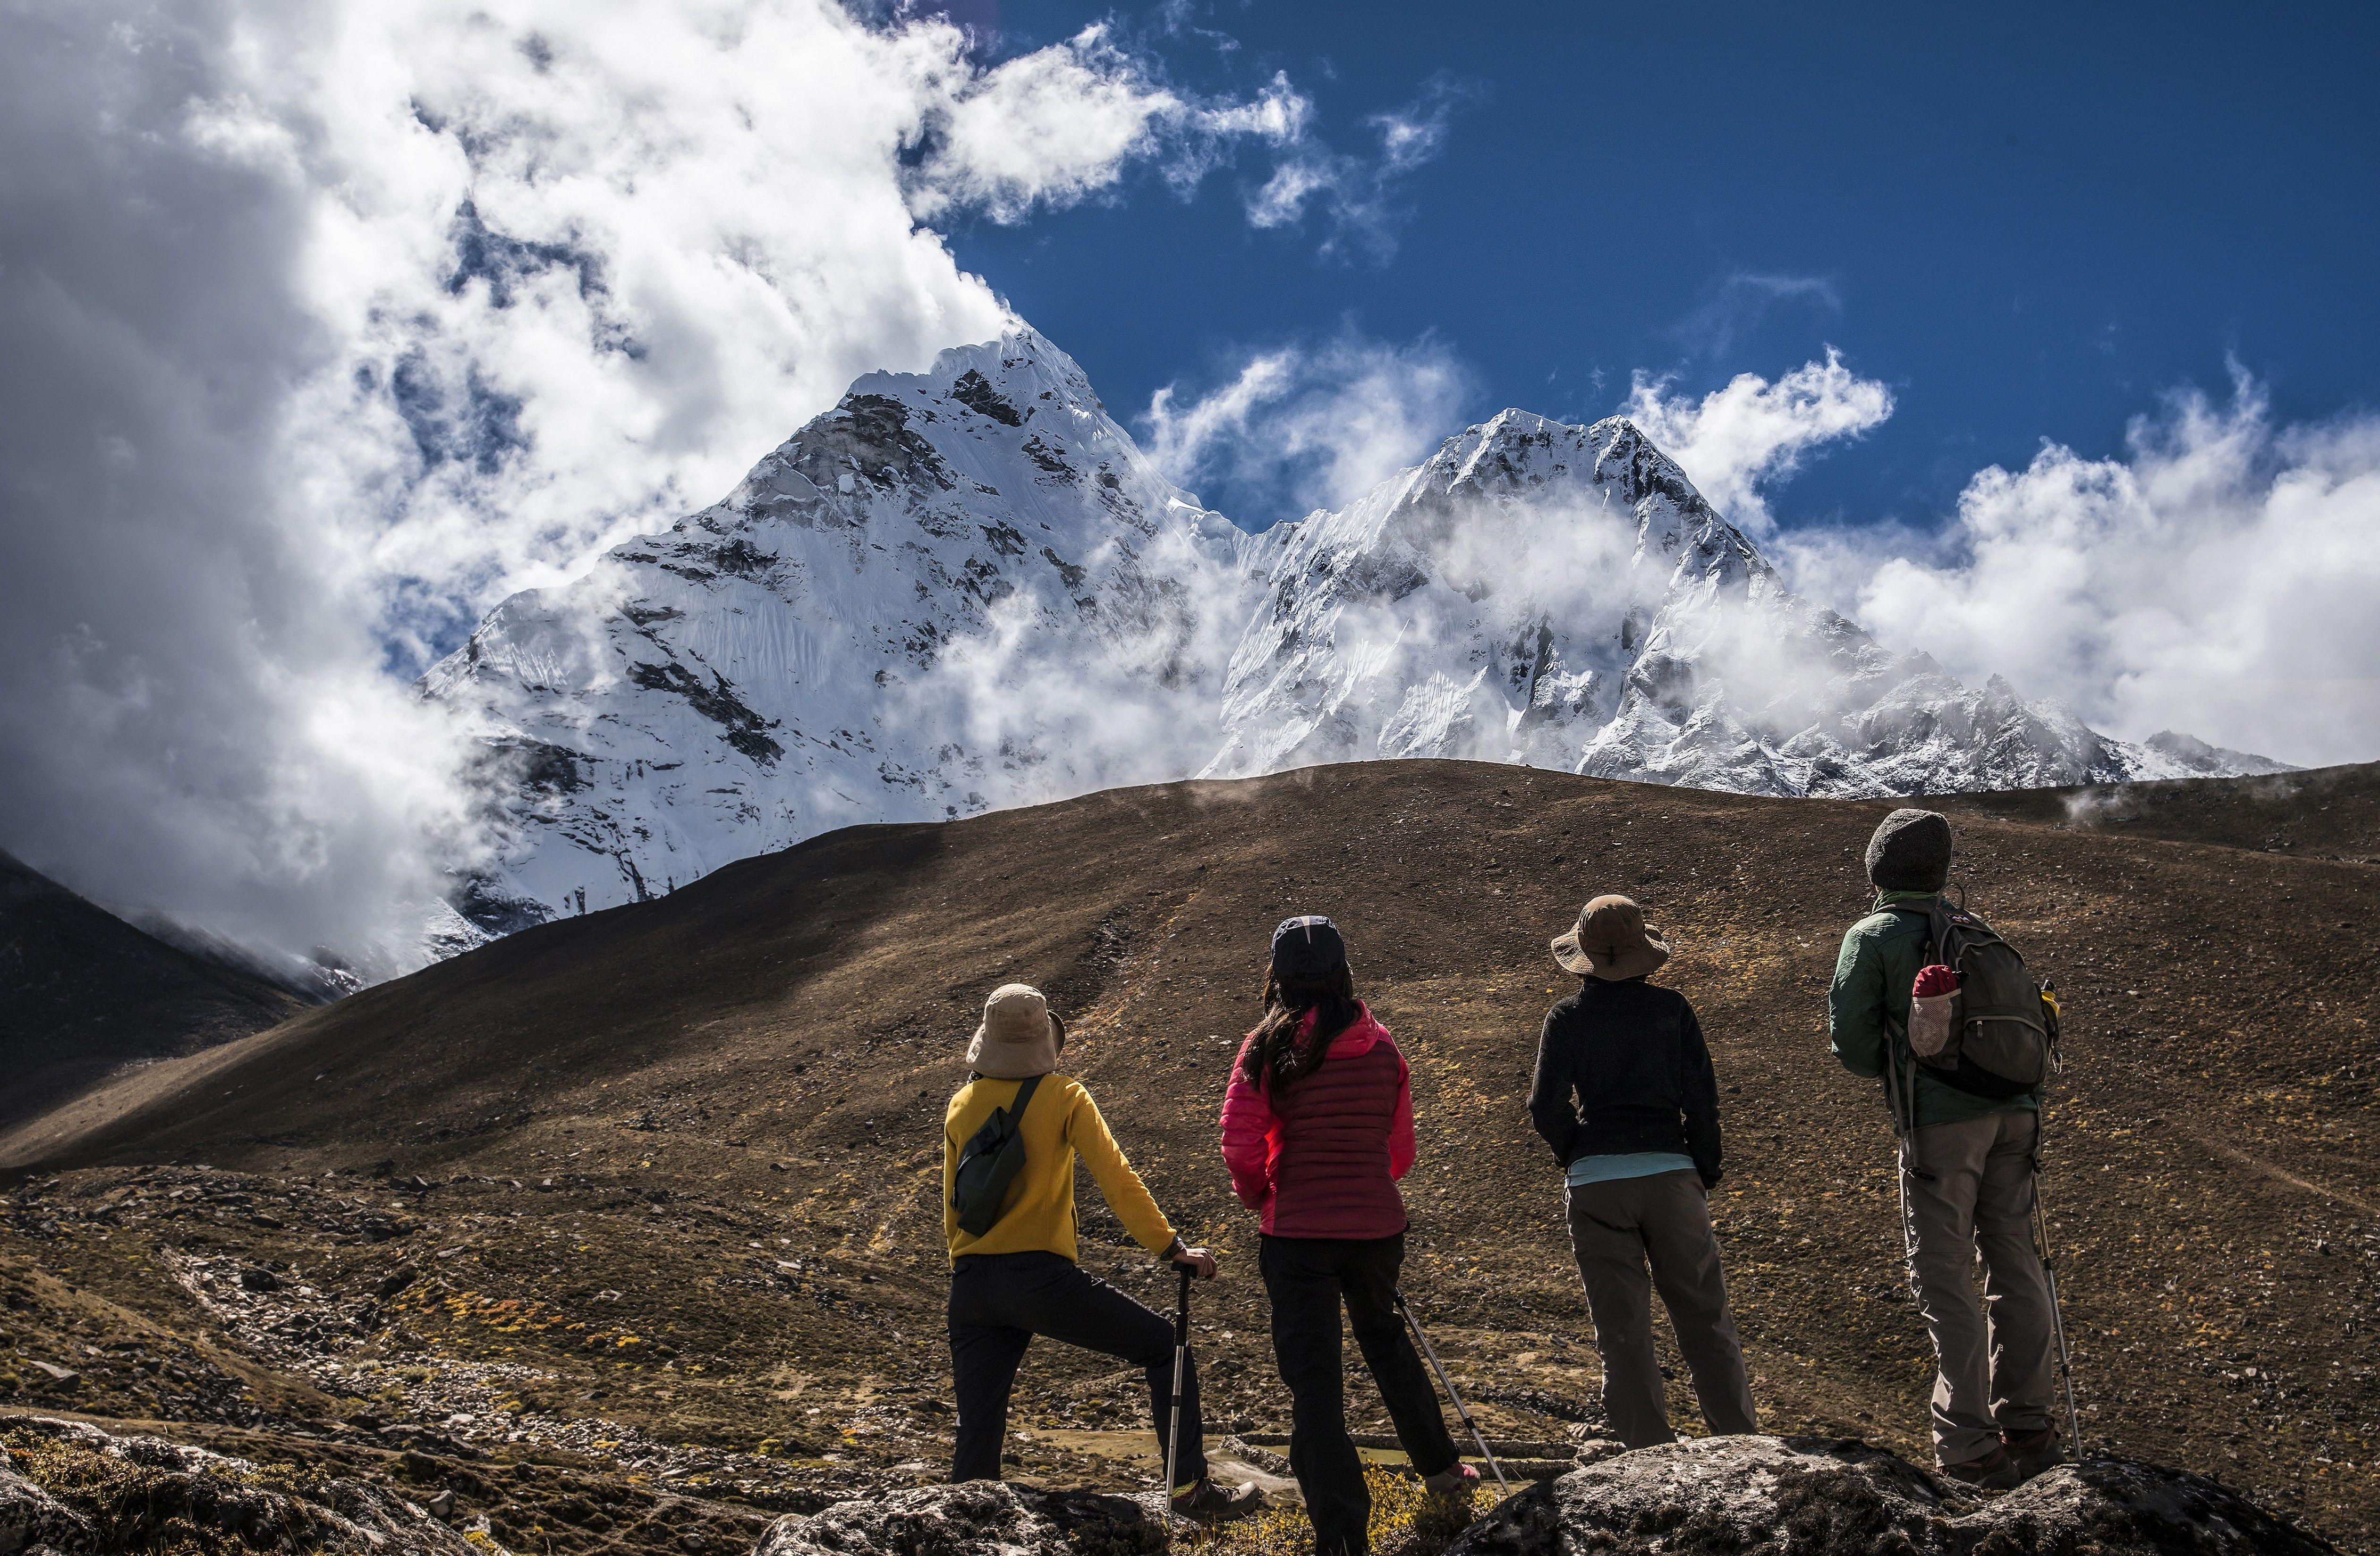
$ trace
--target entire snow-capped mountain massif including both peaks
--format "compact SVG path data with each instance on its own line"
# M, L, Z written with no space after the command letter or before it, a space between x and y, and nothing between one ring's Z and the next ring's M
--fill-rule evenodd
M1964 688L1783 588L1623 419L1504 412L1247 535L1031 328L871 374L424 676L488 728L505 933L854 821L1480 757L1764 795L2275 771Z

